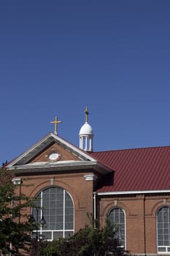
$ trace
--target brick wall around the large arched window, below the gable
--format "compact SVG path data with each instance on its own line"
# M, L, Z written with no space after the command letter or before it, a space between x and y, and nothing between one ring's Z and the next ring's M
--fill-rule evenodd
M66 189L74 202L74 230L77 232L85 224L89 224L88 214L93 213L93 181L86 181L84 177L88 174L92 173L20 176L23 179L21 192L35 197L42 189L51 185ZM26 187L28 184L31 186ZM26 213L30 214L30 209L27 208Z

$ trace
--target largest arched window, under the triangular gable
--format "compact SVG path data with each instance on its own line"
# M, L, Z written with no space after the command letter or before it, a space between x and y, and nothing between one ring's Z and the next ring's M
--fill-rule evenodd
M72 197L61 187L48 187L36 195L36 208L31 209L35 222L45 222L34 231L34 237L53 240L74 233L74 206Z

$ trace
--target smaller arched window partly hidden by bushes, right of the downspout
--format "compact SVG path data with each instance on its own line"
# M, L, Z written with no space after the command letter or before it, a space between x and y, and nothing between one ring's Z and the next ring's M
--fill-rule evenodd
M125 247L125 213L121 208L112 208L109 211L108 219L115 224L115 232L120 244Z

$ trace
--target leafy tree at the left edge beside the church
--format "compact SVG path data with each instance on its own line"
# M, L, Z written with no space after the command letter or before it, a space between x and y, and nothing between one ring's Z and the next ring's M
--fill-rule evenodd
M21 193L18 186L22 184L14 184L12 178L9 170L0 169L0 249L4 254L20 255L20 249L28 249L34 228L22 210L33 200Z

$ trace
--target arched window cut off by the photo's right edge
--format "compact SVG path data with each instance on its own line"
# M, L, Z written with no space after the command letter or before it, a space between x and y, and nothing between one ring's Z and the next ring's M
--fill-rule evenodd
M158 252L170 252L170 207L163 206L157 211Z

